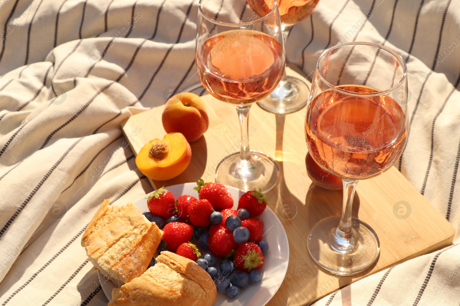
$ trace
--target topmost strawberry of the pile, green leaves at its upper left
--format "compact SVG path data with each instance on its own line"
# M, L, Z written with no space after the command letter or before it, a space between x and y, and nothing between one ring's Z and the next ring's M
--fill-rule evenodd
M215 211L221 211L233 207L233 198L229 189L218 183L205 183L202 178L196 180L195 190L198 191L200 199L208 200Z

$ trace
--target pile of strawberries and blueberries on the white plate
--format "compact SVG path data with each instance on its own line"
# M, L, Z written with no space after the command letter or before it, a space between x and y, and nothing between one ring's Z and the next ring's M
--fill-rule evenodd
M256 217L265 211L268 198L261 189L250 190L234 210L224 185L202 179L196 184L199 199L181 195L174 200L163 187L155 190L144 215L163 229L160 249L196 261L213 278L217 292L234 298L239 289L262 279L259 268L269 246L262 240L264 222ZM190 242L192 239L195 243ZM201 250L206 250L204 256ZM150 264L154 265L155 259Z

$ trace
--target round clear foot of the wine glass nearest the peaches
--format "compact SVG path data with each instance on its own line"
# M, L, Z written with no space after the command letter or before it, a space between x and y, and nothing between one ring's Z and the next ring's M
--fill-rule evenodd
M279 169L276 161L263 153L251 151L253 167L245 167L240 152L226 156L216 169L216 183L232 186L244 191L254 188L269 192L278 183Z

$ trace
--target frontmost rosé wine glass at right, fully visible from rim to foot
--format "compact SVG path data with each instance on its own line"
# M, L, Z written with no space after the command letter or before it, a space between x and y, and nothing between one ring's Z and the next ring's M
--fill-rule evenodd
M341 217L311 229L308 250L332 273L359 273L380 254L377 235L351 217L351 205L359 180L385 172L401 156L407 97L406 63L385 46L346 43L318 60L305 114L306 142L318 165L342 178L344 196Z

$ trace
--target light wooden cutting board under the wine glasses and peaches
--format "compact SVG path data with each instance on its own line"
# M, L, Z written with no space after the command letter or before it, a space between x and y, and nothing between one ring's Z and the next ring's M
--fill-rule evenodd
M152 186L195 182L197 178L214 181L214 170L222 157L239 150L240 128L234 107L211 95L202 99L207 104L209 129L190 144L189 167L171 180L150 181ZM134 154L151 139L162 139L166 134L161 123L163 107L133 115L123 122L124 134ZM376 178L361 181L353 204L353 216L368 223L378 234L381 248L378 261L364 273L339 278L316 266L307 250L309 230L325 217L339 216L342 191L317 187L308 177L304 116L305 110L275 115L257 105L252 106L249 116L249 128L253 131L251 149L272 156L281 171L277 187L268 194L269 206L281 220L289 239L288 273L267 305L306 305L369 274L452 243L454 228L392 167ZM404 216L397 212L403 208L401 204L406 207Z

